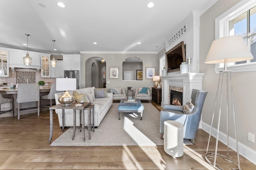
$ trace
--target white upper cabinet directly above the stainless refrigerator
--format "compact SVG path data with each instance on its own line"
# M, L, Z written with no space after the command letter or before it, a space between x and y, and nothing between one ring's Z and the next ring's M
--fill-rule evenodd
M80 70L81 55L63 55L63 70Z

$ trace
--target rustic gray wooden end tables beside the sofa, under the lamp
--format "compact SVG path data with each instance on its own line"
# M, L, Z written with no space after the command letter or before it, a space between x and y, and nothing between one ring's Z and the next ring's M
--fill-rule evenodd
M62 109L62 131L64 131L64 123L65 123L65 109L73 109L74 114L76 113L76 110L80 111L80 115L82 115L82 127L84 128L84 109L88 106L88 103L83 103L82 106L76 106L76 104L79 103L72 103L68 106L64 106L62 104L58 104L55 106L50 107L50 138L49 138L49 143L52 141L52 132L53 132L53 109ZM90 103L89 103L90 104ZM90 106L90 107L89 107ZM89 105L87 110L88 110L88 117L92 113L94 115L94 105ZM92 112L90 111L92 109ZM93 116L94 117L94 116ZM90 139L90 128L91 128L91 119L88 119L88 135ZM94 121L94 120L93 120ZM76 127L74 127L76 128ZM93 122L93 129L94 129L94 122ZM83 130L83 137L84 137L84 130ZM85 141L85 139L84 139Z

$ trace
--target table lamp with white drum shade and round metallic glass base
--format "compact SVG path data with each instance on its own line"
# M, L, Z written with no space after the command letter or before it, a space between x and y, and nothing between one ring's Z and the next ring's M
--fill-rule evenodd
M70 95L68 90L76 90L76 78L56 78L56 90L65 91L58 98L60 104L68 106L74 102L75 97Z

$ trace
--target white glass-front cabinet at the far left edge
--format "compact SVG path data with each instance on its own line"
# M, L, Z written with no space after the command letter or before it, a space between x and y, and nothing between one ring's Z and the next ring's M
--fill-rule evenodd
M9 77L9 51L0 49L0 77Z

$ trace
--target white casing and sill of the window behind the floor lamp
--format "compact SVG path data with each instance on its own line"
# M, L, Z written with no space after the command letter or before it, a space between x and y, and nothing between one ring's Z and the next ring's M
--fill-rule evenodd
M244 12L256 6L255 0L241 0L232 8L221 14L215 19L215 39L229 36L229 21L240 16ZM220 64L215 64L215 72L223 71ZM256 71L256 62L244 63L239 65L228 66L228 70L233 72Z

